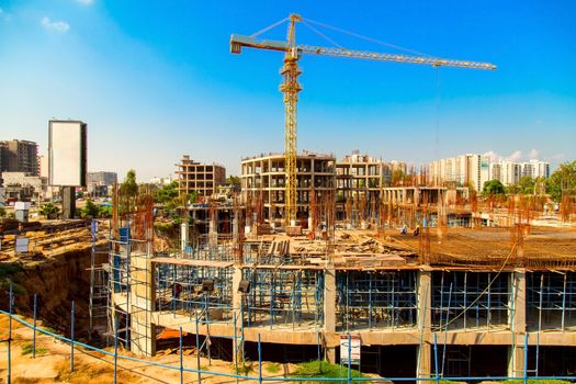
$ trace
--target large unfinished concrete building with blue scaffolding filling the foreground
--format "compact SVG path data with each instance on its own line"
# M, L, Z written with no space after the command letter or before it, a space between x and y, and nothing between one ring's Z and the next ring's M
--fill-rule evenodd
M542 206L528 197L476 202L475 228L449 227L443 200L427 194L408 228L407 200L376 230L336 229L332 210L329 228L297 237L244 234L237 207L233 237L211 225L161 252L151 197L116 194L105 283L92 291L106 300L91 310L100 305L108 335L140 355L181 327L197 353L233 361L257 360L260 340L264 360L338 362L350 335L361 371L387 377L574 374L576 212L540 227Z

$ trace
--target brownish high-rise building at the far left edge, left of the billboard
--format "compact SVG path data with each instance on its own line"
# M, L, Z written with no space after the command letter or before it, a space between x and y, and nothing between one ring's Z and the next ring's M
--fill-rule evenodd
M29 140L0 142L0 171L38 176L38 145Z

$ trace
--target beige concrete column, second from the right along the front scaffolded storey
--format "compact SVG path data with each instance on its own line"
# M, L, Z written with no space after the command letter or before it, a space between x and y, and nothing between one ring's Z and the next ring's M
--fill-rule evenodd
M418 271L418 330L421 342L418 345L416 374L429 377L431 374L430 328L432 325L432 273L430 270Z

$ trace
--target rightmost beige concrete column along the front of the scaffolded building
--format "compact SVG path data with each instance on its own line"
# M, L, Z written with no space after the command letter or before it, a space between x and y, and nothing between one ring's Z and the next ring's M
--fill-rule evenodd
M510 300L508 321L512 335L508 375L521 377L524 371L524 334L526 334L526 270L515 270L510 274Z

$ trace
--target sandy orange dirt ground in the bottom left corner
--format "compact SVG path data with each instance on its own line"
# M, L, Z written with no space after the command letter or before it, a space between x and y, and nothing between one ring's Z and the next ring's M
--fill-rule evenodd
M30 319L26 319L30 321ZM8 338L8 316L0 315L0 340ZM38 324L38 327L42 327ZM36 358L32 358L32 329L12 320L12 347L11 347L11 371L13 384L26 383L112 383L113 382L113 358L103 353L87 351L82 348L75 350L75 372L70 373L70 346L54 340L44 334L36 334ZM113 349L106 349L113 351ZM118 350L118 354L131 355L129 351ZM0 342L0 383L7 383L7 358L8 343ZM149 361L179 366L178 354L167 354L149 359ZM195 355L184 355L184 368L196 368ZM284 369L280 366L279 372L270 373L268 370L276 371L270 366L278 364L264 362L262 375L268 377L282 377ZM230 362L201 358L200 366L222 373L234 373ZM294 365L286 365L287 371ZM252 364L249 375L258 375L258 364ZM197 374L184 372L184 383L197 383ZM179 383L180 372L166 368L155 366L148 363L118 360L118 383ZM255 381L246 381L255 382ZM202 383L236 383L234 377L217 375L202 375ZM270 383L270 382L269 382Z

